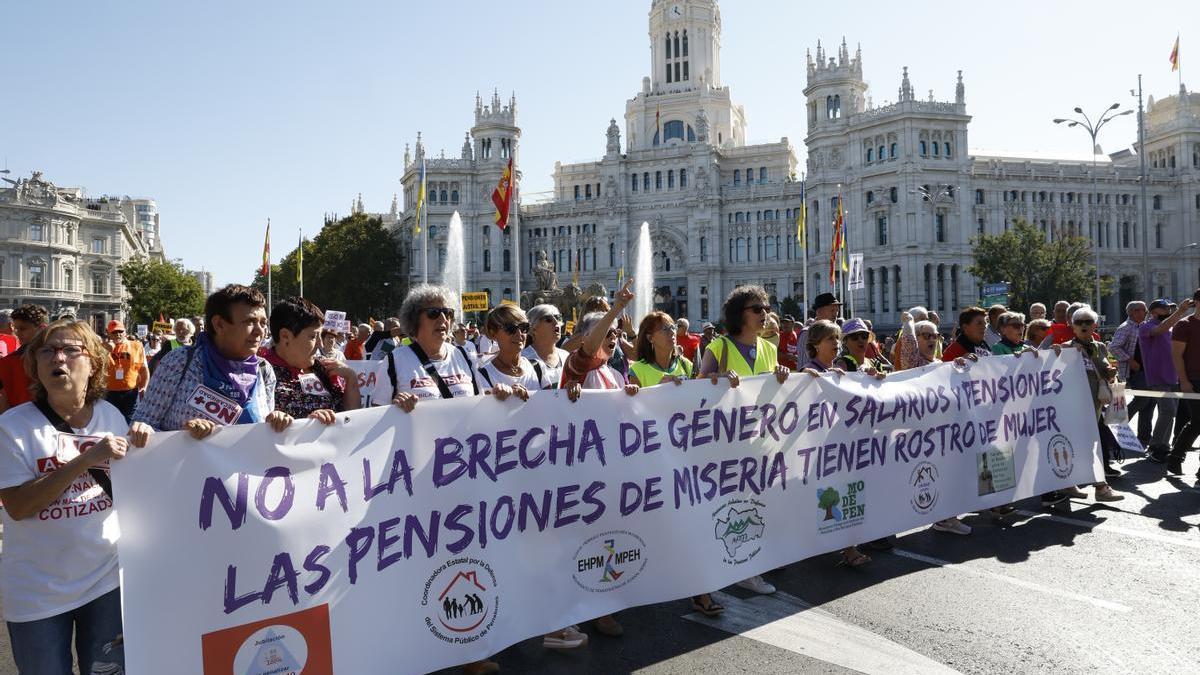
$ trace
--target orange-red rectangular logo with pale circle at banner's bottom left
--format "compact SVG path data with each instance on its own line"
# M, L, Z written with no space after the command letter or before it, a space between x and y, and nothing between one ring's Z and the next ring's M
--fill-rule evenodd
M332 673L329 605L234 626L200 638L204 673Z

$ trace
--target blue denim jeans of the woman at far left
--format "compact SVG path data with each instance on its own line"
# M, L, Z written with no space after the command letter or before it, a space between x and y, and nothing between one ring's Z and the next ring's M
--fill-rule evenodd
M10 621L12 658L20 675L71 675L72 632L79 673L88 675L95 663L114 663L124 670L121 646L104 653L104 645L121 634L121 590L48 619Z

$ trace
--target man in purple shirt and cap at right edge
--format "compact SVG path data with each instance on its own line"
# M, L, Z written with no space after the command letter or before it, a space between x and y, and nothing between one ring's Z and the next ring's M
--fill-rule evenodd
M1175 358L1171 354L1171 328L1183 317L1192 313L1195 301L1188 298L1171 311L1172 303L1159 298L1150 304L1150 318L1138 327L1138 347L1141 350L1142 372L1146 374L1146 388L1156 392L1174 392L1180 384L1175 370ZM1150 461L1163 464L1170 450L1171 426L1175 423L1175 399L1158 399L1157 419L1150 437L1146 456Z

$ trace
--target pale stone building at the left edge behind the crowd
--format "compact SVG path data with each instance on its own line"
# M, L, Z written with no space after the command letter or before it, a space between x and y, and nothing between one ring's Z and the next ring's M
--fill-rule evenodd
M36 303L101 328L124 317L116 269L163 257L152 199L88 198L34 172L0 189L0 306Z

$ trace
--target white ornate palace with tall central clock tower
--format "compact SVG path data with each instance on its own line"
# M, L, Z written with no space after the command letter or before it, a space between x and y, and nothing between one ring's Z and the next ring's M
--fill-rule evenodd
M952 316L977 303L979 281L966 273L970 240L1001 232L1016 217L1048 237L1088 235L1098 222L1102 270L1117 281L1102 311L1116 318L1140 292L1133 153L1100 161L1094 190L1088 162L972 156L961 73L953 101L937 101L932 92L918 100L905 68L896 102L875 107L862 53L851 56L845 41L832 55L818 44L808 60L805 279L796 241L802 199L796 153L786 137L746 145L746 113L721 77L716 1L652 0L649 35L650 76L626 101L624 124L610 121L602 157L556 163L552 197L520 207L522 289L535 286L539 251L560 283L578 261L580 286L601 282L612 289L619 268L631 271L638 227L647 221L655 301L673 315L694 323L715 319L725 294L745 282L762 283L781 299L800 298L808 281L815 297L829 289L830 222L840 193L850 249L864 253L866 288L856 292L856 310L881 325L895 324L901 307L925 304ZM458 157L428 156L420 135L415 154L406 149L404 208L394 207L388 220L409 246L410 281L422 277L421 240L412 234L424 159L430 279L440 276L445 225L458 211L467 233L467 287L490 292L492 304L512 297L512 229L493 226L491 193L520 137L515 96L505 106L493 94L486 106L476 96L475 124ZM1200 240L1200 96L1151 98L1146 144L1151 286L1156 295L1175 294L1200 283L1200 256L1187 262L1178 251ZM916 193L922 186L942 196L924 201Z

